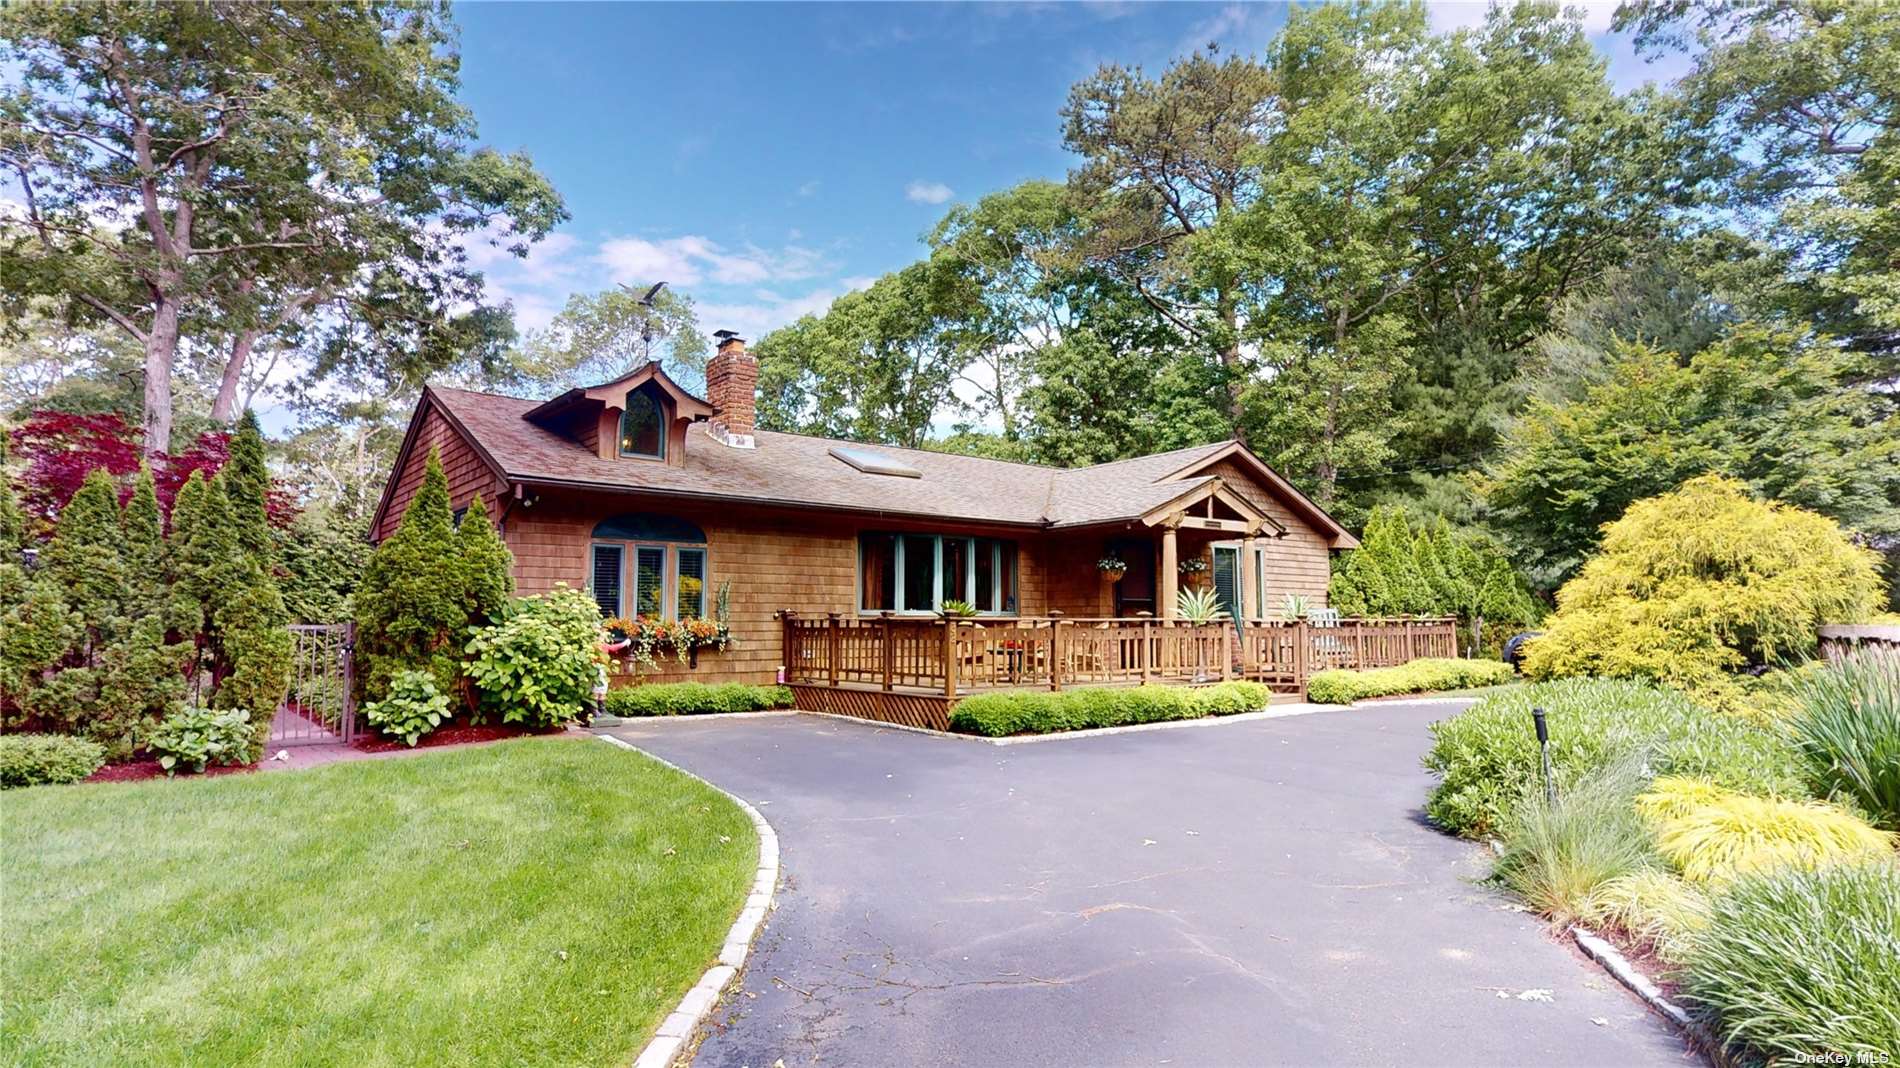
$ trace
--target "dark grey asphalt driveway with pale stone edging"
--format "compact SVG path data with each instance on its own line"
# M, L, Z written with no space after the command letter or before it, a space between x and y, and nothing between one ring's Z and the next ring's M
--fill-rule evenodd
M1436 703L992 747L614 734L760 806L779 908L701 1066L1699 1064L1423 823Z

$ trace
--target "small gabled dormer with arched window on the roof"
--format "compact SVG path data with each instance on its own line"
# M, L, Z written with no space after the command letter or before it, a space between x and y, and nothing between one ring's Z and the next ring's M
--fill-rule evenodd
M521 418L580 441L602 460L678 467L686 464L686 428L714 414L652 361L612 382L568 390Z

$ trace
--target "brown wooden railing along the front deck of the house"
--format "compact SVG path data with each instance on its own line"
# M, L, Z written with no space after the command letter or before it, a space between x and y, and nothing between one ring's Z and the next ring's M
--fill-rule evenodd
M927 620L781 612L787 682L927 690L1256 678L1303 692L1315 671L1457 656L1454 620Z

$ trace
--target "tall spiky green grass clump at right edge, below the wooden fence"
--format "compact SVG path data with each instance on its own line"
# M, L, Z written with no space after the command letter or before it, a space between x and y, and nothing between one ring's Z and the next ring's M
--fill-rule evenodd
M1900 654L1864 652L1788 682L1796 756L1820 796L1849 798L1900 830Z

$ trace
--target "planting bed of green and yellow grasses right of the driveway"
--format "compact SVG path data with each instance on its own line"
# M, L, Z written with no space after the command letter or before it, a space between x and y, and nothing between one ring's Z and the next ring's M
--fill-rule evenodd
M1499 882L1630 946L1737 1062L1875 1062L1900 1049L1900 857L1860 768L1900 747L1896 680L1900 661L1814 667L1775 715L1638 682L1524 686L1433 724L1442 781L1425 808L1501 836ZM1843 707L1854 730L1830 732Z

